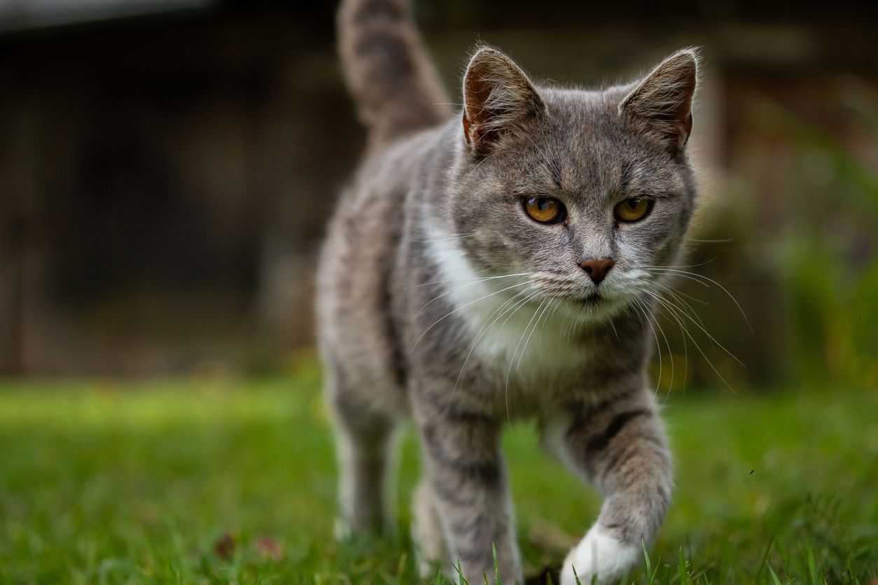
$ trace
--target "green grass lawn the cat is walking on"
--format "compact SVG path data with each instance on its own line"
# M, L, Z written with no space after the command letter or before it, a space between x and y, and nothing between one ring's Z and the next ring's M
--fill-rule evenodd
M878 577L875 392L671 396L665 412L674 503L629 581ZM505 447L538 574L600 500L539 450L533 425ZM339 546L313 367L268 382L3 382L0 581L416 582L411 433L401 467L400 536Z

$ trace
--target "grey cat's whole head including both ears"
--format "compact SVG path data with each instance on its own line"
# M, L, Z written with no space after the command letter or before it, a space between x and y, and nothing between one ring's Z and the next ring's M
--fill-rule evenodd
M494 289L522 275L509 282L526 278L532 300L584 317L654 289L694 208L685 146L697 67L686 49L628 85L553 89L479 49L443 213L473 271L500 277Z

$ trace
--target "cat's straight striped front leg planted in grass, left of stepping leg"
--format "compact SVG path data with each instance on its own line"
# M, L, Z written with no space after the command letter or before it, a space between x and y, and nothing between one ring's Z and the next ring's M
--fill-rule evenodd
M481 582L483 571L493 575L496 547L503 582L522 582L499 422L472 405L450 403L450 389L428 396L436 397L421 396L414 409L430 486L424 493L432 498L449 557L434 560L455 582L458 562L466 580Z

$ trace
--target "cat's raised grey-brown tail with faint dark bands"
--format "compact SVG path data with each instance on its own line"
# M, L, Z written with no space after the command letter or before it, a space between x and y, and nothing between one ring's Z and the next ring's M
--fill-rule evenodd
M372 145L448 118L409 0L343 0L338 33L342 70Z

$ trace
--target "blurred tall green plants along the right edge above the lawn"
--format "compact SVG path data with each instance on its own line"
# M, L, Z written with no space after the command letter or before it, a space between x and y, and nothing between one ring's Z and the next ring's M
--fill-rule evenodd
M794 145L797 163L784 202L797 212L776 259L790 299L795 371L801 381L876 388L878 170L774 103L760 113L767 131ZM878 145L875 119L850 113Z

